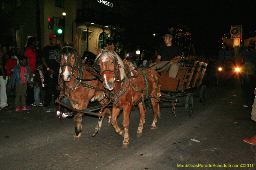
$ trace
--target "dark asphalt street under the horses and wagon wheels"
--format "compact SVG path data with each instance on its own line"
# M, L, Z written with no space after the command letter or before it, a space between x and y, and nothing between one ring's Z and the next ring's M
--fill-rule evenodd
M140 117L135 107L130 116L128 149L122 148L123 138L107 125L107 118L92 137L98 117L84 115L82 139L73 140L73 117L62 118L60 123L56 112L47 112L58 109L53 104L15 112L12 95L8 98L11 108L0 111L0 169L256 169L256 146L243 142L245 137L256 135L256 123L250 119L254 88L237 88L232 82L221 87L208 85L206 104L194 97L191 117L186 117L184 107L175 108L177 118L171 108L161 108L154 130L150 129L153 112L147 108L141 137L136 137ZM122 120L120 114L120 127ZM248 167L232 167L241 164Z

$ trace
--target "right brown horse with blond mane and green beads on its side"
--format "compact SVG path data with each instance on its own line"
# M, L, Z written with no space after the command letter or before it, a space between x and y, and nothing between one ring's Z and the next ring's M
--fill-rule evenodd
M155 70L135 68L133 64L126 60L122 61L112 47L107 47L105 50L96 50L99 55L95 59L94 68L100 71L101 80L108 92L108 98L113 103L110 122L116 133L124 137L123 148L128 148L129 117L134 104L138 104L140 110L137 136L142 135L143 124L145 123L144 99L151 99L154 112L151 129L156 129L156 115L160 117L158 104L161 96L159 89L160 77ZM124 130L119 128L116 122L121 109L124 110Z

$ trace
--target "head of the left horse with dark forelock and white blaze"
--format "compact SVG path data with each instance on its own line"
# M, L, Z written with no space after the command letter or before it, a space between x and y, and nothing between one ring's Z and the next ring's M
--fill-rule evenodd
M61 48L56 61L60 63L60 74L63 80L70 81L78 68L79 58L72 44L63 44Z

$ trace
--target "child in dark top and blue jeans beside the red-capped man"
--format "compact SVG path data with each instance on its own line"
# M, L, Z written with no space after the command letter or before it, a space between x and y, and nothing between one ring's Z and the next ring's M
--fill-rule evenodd
M33 77L34 77L34 99L35 102L32 103L32 106L44 106L40 102L40 90L44 87L44 66L43 63L37 63L36 64L36 70L34 71Z

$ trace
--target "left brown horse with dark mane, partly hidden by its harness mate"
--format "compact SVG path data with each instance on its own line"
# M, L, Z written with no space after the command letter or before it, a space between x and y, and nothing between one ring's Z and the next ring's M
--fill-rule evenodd
M98 73L92 67L82 63L72 46L63 46L56 56L56 61L60 63L61 76L65 81L61 83L62 90L73 108L83 110L87 108L89 101L94 100L98 100L102 104L104 87L98 79ZM76 78L83 79L83 81L78 81ZM106 112L109 117L108 124L110 125L111 111L106 108L102 112L99 129ZM74 121L76 128L73 139L79 140L82 137L82 114L75 115Z

